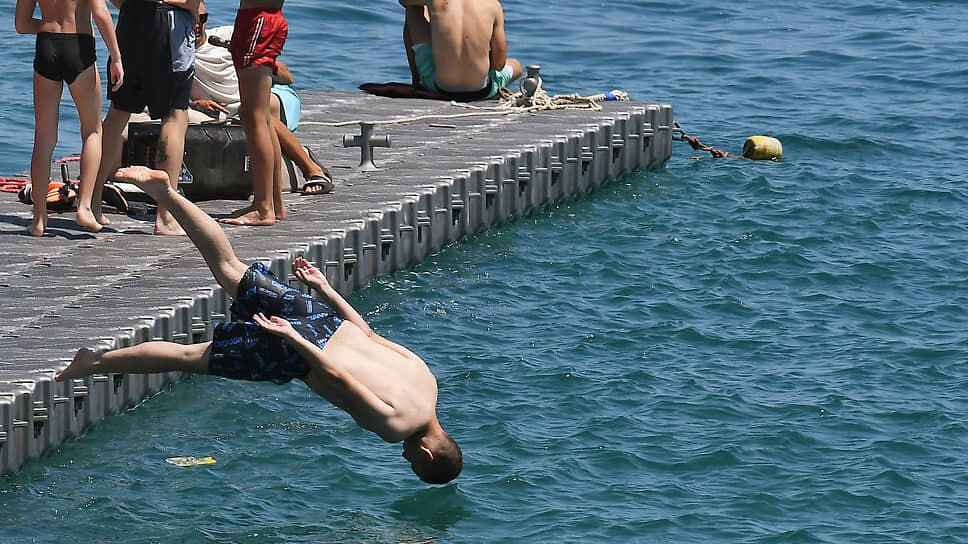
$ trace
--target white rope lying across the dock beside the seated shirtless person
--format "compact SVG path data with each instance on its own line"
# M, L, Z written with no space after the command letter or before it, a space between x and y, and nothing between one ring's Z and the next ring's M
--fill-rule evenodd
M486 117L490 115L499 116L524 114L547 110L588 109L598 111L602 109L598 102L604 102L609 99L628 102L629 95L624 91L615 90L611 93L602 93L593 96L581 96L579 94L549 96L548 93L541 88L541 83L539 80L538 87L535 89L534 95L530 97L525 96L524 93L521 92L507 92L502 90L501 101L496 107L474 106L453 100L450 102L450 105L454 107L476 110L472 112L415 115L412 117L395 117L393 119L378 119L372 121L364 121L363 119L334 123L325 123L321 121L302 121L299 124L317 127L348 127L352 125L359 125L363 122L372 123L373 125L398 125L431 119L463 119L468 117Z

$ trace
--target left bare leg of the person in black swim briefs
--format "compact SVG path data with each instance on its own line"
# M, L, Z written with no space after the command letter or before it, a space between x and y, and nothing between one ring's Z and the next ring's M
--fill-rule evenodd
M27 232L43 236L47 230L47 191L50 187L50 161L57 145L57 121L64 84L34 72L34 149L30 156L30 190L34 218Z

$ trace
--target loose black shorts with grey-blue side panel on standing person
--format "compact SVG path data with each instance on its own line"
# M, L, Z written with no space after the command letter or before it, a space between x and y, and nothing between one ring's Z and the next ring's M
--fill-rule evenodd
M187 110L195 75L192 14L160 2L128 0L118 13L118 48L124 82L108 100L118 110L152 119ZM108 63L110 63L110 59Z

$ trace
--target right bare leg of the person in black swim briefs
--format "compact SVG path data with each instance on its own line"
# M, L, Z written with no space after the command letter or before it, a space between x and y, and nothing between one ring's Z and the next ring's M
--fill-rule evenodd
M92 65L68 85L81 122L81 185L77 198L77 224L97 232L101 224L91 210L91 198L101 164L101 76ZM100 197L99 197L100 198Z

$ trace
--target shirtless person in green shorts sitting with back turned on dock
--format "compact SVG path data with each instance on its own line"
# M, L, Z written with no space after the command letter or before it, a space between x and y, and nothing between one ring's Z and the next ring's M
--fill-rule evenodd
M497 0L399 0L407 8L403 43L414 86L470 102L497 94L521 75L507 58Z

